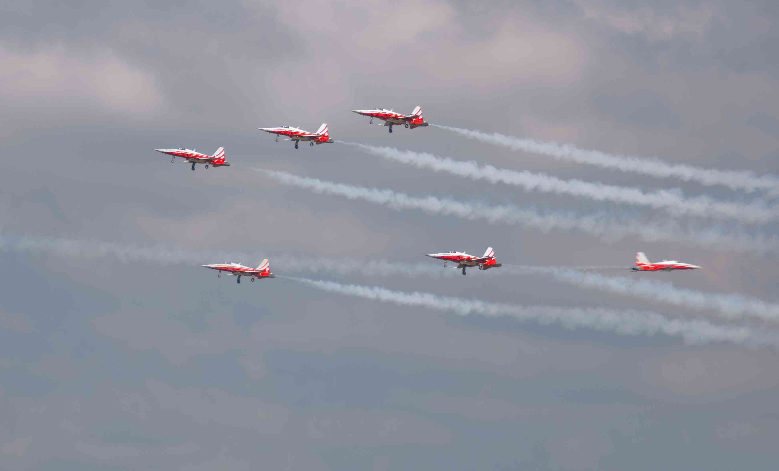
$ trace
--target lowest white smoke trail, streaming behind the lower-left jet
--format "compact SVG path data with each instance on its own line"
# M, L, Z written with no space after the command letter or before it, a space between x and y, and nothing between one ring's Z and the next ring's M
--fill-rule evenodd
M714 325L702 320L666 318L650 311L616 311L604 308L562 308L558 306L521 306L517 304L487 303L476 299L436 296L432 293L407 293L387 290L380 286L341 284L332 281L282 276L319 290L346 296L450 311L457 315L483 315L486 317L510 316L520 321L535 320L541 324L557 322L566 329L588 327L616 332L622 335L652 336L661 332L667 336L680 336L686 343L731 342L748 346L772 346L779 348L779 338L773 332L756 332L748 327Z

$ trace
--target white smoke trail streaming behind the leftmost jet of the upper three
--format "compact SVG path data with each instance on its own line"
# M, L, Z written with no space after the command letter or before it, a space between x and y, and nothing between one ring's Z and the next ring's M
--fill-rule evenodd
M625 237L639 237L643 241L684 241L687 244L707 248L728 248L731 251L755 252L758 254L779 252L776 236L751 236L743 233L728 234L719 228L686 230L679 223L663 221L645 223L626 221L606 213L592 216L576 216L572 213L541 213L533 208L517 206L486 206L475 202L459 202L453 199L439 199L435 196L414 197L389 189L365 188L316 178L305 178L274 170L254 169L280 181L284 185L308 188L313 192L340 195L348 199L402 209L419 209L428 214L456 216L465 220L483 220L490 224L519 224L548 232L549 230L580 230L585 234L616 241Z

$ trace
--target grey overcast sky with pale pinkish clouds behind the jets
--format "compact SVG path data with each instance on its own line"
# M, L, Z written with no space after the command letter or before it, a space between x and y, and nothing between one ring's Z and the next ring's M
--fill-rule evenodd
M249 170L671 218L404 167L342 143L296 150L256 130L326 122L340 141L752 202L760 194L566 163L440 128L390 135L349 110L419 105L441 125L777 174L776 2L6 3L4 237L236 251L253 258L227 262L270 257L277 275L715 319L499 269L340 276L291 272L272 256L416 263L492 246L506 264L631 265L644 251L703 269L606 274L779 303L776 254L397 212ZM224 146L234 166L192 172L151 150L177 146ZM770 236L777 225L742 229ZM220 259L11 250L0 260L2 469L710 471L774 469L779 459L776 350L462 318L289 279L238 285L199 268Z

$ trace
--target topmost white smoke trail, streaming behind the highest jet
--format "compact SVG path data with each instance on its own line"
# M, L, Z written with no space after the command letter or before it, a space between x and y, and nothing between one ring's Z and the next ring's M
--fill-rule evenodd
M756 190L775 191L779 189L779 178L770 174L759 177L747 170L717 170L693 167L691 165L664 162L657 157L618 156L598 150L578 149L569 144L561 145L557 142L538 142L534 139L520 139L511 135L498 134L497 132L487 133L449 126L433 126L456 132L467 138L478 139L481 142L489 142L498 146L508 147L509 149L538 153L555 157L555 159L559 160L587 163L602 168L612 168L660 178L696 181L701 185L707 186L724 185L732 190L744 190L748 193Z

